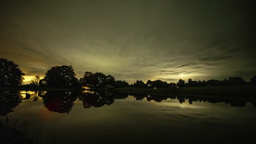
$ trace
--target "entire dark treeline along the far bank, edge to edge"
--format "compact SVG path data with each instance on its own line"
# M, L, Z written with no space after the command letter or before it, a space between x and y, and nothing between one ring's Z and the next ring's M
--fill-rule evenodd
M28 85L22 85L25 74L20 70L19 65L7 59L0 58L0 87L22 87L22 88L104 88L104 87L149 87L149 88L167 88L167 87L193 87L193 86L229 86L229 85L256 85L256 76L252 77L249 82L244 81L241 77L229 77L224 80L203 80L193 81L189 79L180 79L177 83L166 81L148 80L147 83L143 81L136 81L129 85L126 81L116 81L112 75L104 75L103 73L91 73L85 71L84 76L79 80L75 77L74 69L71 65L62 65L51 67L46 71L43 79L36 75Z

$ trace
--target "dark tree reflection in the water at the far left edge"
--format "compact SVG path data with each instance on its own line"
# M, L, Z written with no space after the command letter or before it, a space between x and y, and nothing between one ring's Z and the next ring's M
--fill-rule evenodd
M0 116L13 112L14 107L21 103L18 92L0 92Z

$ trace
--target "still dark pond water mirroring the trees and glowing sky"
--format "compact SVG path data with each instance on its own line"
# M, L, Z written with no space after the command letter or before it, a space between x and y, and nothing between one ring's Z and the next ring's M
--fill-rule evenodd
M256 136L255 103L245 99L15 93L2 92L0 115L26 122L32 131L42 128L30 134L37 143L231 143Z

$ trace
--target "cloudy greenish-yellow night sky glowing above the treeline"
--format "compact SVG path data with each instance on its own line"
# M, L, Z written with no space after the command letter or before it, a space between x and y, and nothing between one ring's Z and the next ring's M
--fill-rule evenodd
M256 75L253 1L1 1L0 57L133 82Z

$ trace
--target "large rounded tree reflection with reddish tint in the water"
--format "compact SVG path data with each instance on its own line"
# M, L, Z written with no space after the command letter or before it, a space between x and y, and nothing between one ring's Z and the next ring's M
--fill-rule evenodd
M59 113L69 113L77 99L77 94L74 92L48 91L39 95L49 111Z

